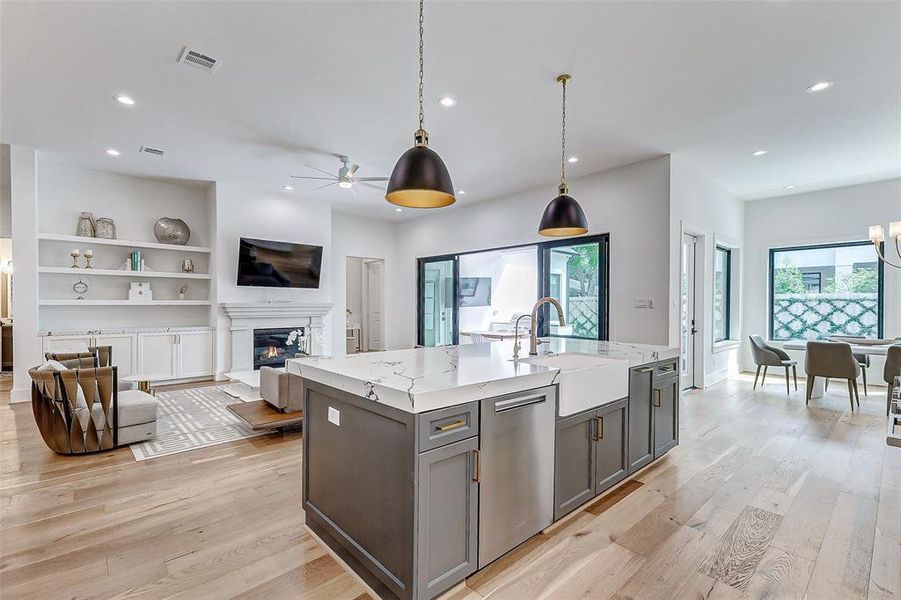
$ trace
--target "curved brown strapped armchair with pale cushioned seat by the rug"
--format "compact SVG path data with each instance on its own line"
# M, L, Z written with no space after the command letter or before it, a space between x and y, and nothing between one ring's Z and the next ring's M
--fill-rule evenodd
M156 398L139 390L120 392L117 369L108 364L110 349L92 350L48 353L56 363L29 371L35 423L54 452L101 452L156 435ZM99 365L101 360L107 364Z

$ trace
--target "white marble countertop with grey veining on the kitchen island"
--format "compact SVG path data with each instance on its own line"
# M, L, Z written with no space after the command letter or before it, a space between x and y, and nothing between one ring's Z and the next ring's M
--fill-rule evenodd
M549 338L541 354L580 352L626 360L630 367L674 358L678 348ZM528 346L528 339L525 340ZM527 350L521 352L523 358ZM419 413L555 382L558 369L513 360L513 342L295 358L294 373L325 385Z

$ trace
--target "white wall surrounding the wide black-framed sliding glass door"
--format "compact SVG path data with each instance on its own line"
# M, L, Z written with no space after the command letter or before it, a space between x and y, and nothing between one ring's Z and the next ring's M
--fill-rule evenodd
M669 337L668 156L569 181L588 217L590 234L610 233L610 339L667 343ZM402 344L416 342L416 258L546 241L538 221L556 186L461 206L406 221L398 228L396 285ZM652 298L638 309L635 298Z

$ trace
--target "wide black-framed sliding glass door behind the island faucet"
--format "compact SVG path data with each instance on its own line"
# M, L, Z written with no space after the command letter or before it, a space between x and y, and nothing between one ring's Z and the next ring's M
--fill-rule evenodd
M539 335L607 339L608 243L586 236L419 259L418 343L512 337L516 318L541 296L560 301L565 324L544 306Z

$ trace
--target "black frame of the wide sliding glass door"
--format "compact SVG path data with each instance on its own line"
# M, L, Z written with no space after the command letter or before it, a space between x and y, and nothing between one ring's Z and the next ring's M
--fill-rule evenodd
M460 343L460 257L467 254L482 254L485 252L496 252L498 250L513 250L516 248L536 248L537 255L537 289L535 290L536 299L549 295L550 293L550 269L545 266L545 261L550 262L550 250L559 246L577 246L591 243L600 244L600 258L598 269L600 271L598 277L598 340L607 340L610 335L610 234L601 233L596 235L585 235L579 237L561 238L559 240L551 240L547 242L531 242L525 244L512 244L509 246L497 246L494 248L482 248L479 250L467 250L465 252L455 252L453 254L441 254L438 256L425 256L416 259L416 343L423 346L425 342L425 321L423 314L423 299L425 297L425 265L428 263L453 261L453 343ZM565 285L565 282L564 282ZM547 293L546 293L547 292ZM540 310L543 323L548 322L549 306L545 305ZM540 337L561 337L568 339L589 340L595 338L584 338L579 336L554 335L546 331L546 327L542 327L538 332Z

